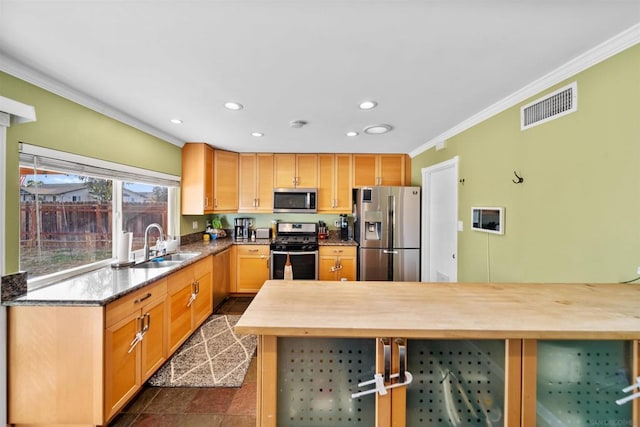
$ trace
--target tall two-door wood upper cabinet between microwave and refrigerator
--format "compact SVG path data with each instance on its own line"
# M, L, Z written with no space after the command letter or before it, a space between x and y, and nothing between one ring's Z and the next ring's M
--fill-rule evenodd
M351 213L351 154L318 154L318 212Z

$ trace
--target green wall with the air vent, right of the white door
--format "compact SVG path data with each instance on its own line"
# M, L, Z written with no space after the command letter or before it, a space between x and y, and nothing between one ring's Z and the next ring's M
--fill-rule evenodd
M640 45L412 159L459 156L458 280L619 282L640 266ZM520 106L572 81L578 111L520 131ZM524 177L514 184L513 172ZM470 230L471 206L504 206L504 235ZM490 276L490 277L489 277Z

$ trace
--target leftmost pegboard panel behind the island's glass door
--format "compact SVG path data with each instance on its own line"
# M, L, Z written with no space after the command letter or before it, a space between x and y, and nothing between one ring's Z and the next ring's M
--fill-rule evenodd
M278 338L278 427L375 425L375 339Z

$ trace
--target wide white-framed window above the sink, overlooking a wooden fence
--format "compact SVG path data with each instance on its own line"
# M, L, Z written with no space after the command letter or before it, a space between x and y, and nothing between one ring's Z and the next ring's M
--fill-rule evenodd
M174 176L21 144L20 269L29 288L114 262L123 231L133 232L134 251L151 223L177 236L178 188Z

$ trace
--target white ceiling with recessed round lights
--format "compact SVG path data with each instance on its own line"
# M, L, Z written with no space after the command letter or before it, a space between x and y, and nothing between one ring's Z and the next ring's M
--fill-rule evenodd
M639 0L0 0L0 70L177 145L408 153L639 22Z

